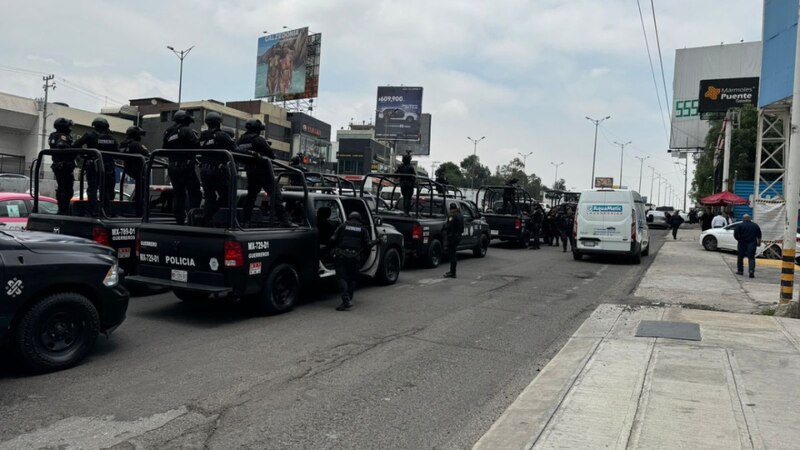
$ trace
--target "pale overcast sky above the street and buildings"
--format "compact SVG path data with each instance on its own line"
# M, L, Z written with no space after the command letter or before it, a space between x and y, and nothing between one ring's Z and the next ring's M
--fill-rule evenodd
M662 103L650 2L641 0ZM655 0L668 94L676 48L761 39L762 2ZM253 97L257 38L263 31L321 32L320 91L314 115L334 130L374 116L378 85L424 87L433 114L430 161L458 163L467 136L486 139L478 155L492 170L533 152L528 172L589 187L594 126L601 125L597 176L619 176L650 193L650 170L682 188L666 152L635 0L175 0L15 2L0 27L0 90L41 96L41 78L8 66L54 73L53 101L99 110L130 98L177 100L178 60L166 49L195 45L184 65L185 100ZM66 82L61 81L66 80ZM92 95L86 92L89 91ZM664 106L669 121L668 111ZM668 129L668 123L667 123ZM428 161L428 162L426 162Z

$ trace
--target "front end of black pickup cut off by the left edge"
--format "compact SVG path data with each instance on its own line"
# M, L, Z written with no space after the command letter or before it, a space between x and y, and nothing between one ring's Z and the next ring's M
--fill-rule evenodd
M0 231L0 343L32 370L78 364L125 319L114 251L86 239Z

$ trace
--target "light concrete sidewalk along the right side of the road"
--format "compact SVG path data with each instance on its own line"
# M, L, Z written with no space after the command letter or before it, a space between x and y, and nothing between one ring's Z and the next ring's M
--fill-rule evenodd
M685 307L598 307L474 448L800 448L800 320L704 310L774 304L779 270L742 279L735 255L679 236L635 295ZM701 340L636 337L642 321Z

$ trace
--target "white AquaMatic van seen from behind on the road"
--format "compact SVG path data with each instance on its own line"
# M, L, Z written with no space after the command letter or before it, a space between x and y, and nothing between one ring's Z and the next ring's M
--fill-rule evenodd
M576 260L583 255L627 255L635 264L650 253L644 202L636 191L592 189L581 192L575 218Z

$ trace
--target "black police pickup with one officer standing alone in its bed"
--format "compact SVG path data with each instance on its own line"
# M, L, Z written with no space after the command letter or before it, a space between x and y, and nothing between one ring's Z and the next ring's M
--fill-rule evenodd
M403 211L403 198L397 195L400 192L400 180L405 177L415 178L414 197L408 215ZM388 195L384 194L386 191ZM383 223L393 225L403 234L406 257L414 258L426 267L439 265L446 251L445 226L450 203L456 203L464 216L464 235L458 250L472 250L478 258L486 256L490 240L489 225L474 203L459 198L445 186L421 176L370 173L364 179L361 193L380 200L370 207L374 208L373 213ZM390 200L384 201L384 198Z

